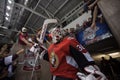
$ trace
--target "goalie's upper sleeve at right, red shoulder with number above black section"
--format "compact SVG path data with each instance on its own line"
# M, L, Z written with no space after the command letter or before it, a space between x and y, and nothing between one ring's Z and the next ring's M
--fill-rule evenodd
M83 67L83 64L81 63L88 62L86 60L86 57L84 56L84 52L86 52L86 49L76 39L71 39L69 49L71 56L78 64L79 68Z

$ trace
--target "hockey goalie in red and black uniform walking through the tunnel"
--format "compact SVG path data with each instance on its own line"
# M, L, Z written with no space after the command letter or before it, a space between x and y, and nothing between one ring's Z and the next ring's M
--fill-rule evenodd
M44 29L46 30L47 26ZM40 43L43 42L44 29ZM89 52L75 38L66 36L65 33L62 28L54 28L51 32L52 44L40 54L41 58L48 58L53 76L51 80L107 80ZM34 49L35 45L30 51L35 51ZM82 72L79 72L79 69Z

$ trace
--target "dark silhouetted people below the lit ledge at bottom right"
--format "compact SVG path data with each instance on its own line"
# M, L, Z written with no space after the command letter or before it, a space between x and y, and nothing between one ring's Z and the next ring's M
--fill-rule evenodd
M101 71L108 77L109 80L118 80L120 76L120 61L109 56L109 59L101 58Z

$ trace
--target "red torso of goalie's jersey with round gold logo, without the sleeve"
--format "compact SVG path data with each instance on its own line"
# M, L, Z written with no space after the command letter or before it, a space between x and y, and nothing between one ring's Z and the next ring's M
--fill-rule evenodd
M75 79L78 72L78 65L71 57L69 46L79 44L71 37L64 38L58 44L52 44L48 48L50 70L53 75Z

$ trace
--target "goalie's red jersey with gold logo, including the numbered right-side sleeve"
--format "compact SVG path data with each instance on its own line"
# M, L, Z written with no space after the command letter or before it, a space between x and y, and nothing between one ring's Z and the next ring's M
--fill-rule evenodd
M72 38L66 37L58 44L52 44L48 48L48 56L50 61L50 70L54 76L75 79L78 72L78 64L72 56L70 46L74 47L79 54L79 67L87 66L88 63L94 61L88 51L80 45L80 43ZM73 51L73 54L75 52Z

